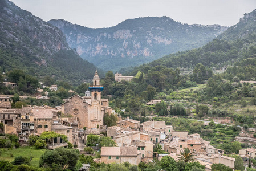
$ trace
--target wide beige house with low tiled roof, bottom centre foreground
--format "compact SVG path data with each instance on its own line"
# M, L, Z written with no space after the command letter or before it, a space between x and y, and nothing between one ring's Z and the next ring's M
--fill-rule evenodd
M101 162L105 164L129 162L138 165L141 161L141 153L132 146L102 147L100 156Z

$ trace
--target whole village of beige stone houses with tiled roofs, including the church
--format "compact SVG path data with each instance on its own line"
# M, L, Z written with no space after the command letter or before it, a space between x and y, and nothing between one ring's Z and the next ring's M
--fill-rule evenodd
M140 162L153 162L156 158L161 160L167 155L178 160L182 150L188 148L194 152L196 161L205 166L205 170L212 170L212 164L224 164L234 170L235 158L225 156L224 150L216 149L210 145L210 141L203 140L200 132L189 135L188 131L175 131L172 125L153 118L143 123L129 117L122 119L108 106L108 99L101 99L103 89L96 71L90 91L86 91L83 97L74 95L56 108L45 105L12 109L9 98L1 97L0 120L3 133L18 135L19 143L26 145L30 135L55 132L66 135L67 140L82 151L86 147L87 136L107 135L115 141L116 146L103 146L100 150L101 158L94 158L95 162L105 164L129 162L138 165ZM160 102L151 100L147 105ZM63 114L68 117L63 117ZM103 125L103 116L109 114L118 118L115 126ZM67 146L68 143L61 137L47 140L48 149ZM159 147L163 153L154 150ZM239 154L243 158L254 158L256 150L241 149Z

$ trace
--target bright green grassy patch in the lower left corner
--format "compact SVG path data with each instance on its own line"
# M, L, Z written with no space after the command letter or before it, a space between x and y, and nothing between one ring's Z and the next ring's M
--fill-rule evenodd
M25 156L25 157L30 157L32 156L31 160L31 166L34 166L36 168L39 167L39 160L42 154L46 149L32 149L32 148L17 148L17 149L3 149L3 152L1 152L0 155L0 160L5 160L5 161L13 161L14 157L16 156ZM11 157L13 155L13 157Z

